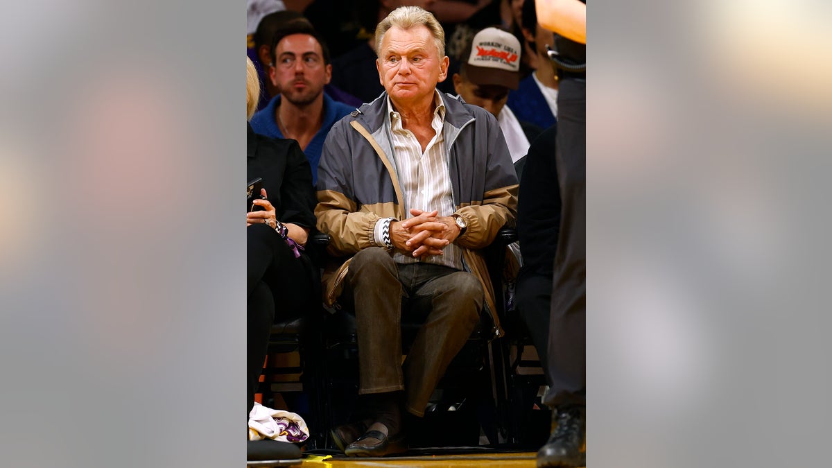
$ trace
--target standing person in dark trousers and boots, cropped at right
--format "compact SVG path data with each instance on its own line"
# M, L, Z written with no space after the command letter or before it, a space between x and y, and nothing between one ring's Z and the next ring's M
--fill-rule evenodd
M537 452L537 467L586 466L587 75L577 65L587 62L587 7L586 0L537 0L535 7L537 22L556 33L552 62L560 84L553 153L561 200L547 349L552 384L543 396L555 409L554 430Z

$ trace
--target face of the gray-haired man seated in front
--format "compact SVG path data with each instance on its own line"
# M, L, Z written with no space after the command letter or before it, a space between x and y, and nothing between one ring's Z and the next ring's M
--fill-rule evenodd
M439 57L428 27L391 27L384 33L375 61L379 81L399 104L433 96L436 84L448 76L448 57Z

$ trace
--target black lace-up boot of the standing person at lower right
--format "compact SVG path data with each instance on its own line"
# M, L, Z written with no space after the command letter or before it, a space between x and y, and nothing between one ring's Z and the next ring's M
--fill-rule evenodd
M537 452L537 468L587 466L586 408L559 406L552 412L552 422L557 426L546 445Z

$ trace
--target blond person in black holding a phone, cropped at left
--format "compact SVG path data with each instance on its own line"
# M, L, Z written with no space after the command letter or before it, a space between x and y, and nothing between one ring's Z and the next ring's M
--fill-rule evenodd
M246 104L254 114L260 85L248 62ZM252 79L253 77L253 79ZM314 227L316 203L310 163L295 140L274 139L247 124L246 176L260 177L264 199L246 215L248 306L248 411L263 370L270 327L275 317L300 316L314 301L318 271L304 251ZM247 207L251 208L251 207Z

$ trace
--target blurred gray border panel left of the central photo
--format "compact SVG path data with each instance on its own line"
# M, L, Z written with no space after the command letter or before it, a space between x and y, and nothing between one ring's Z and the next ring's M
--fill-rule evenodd
M0 12L4 466L241 466L235 2Z

